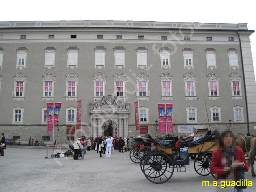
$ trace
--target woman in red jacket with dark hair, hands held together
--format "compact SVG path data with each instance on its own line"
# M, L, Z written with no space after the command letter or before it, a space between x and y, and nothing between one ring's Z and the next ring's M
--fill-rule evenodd
M247 172L248 165L243 150L236 146L234 134L230 129L224 130L217 135L216 142L218 142L219 148L214 150L212 154L211 173L215 174L218 185L220 182L225 182L226 186L226 183L239 181L241 171ZM216 191L225 191L223 186L216 186ZM228 187L234 188L231 185ZM243 191L241 186L236 186L236 189L237 192Z

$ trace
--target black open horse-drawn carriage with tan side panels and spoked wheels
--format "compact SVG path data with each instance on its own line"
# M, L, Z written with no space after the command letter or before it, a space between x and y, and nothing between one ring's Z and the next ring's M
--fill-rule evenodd
M168 181L173 175L174 168L177 172L185 172L191 155L198 155L194 162L197 174L211 174L212 152L216 146L214 136L208 129L198 129L193 138L182 142L181 150L178 152L175 147L178 140L176 137L169 141L160 141L149 134L145 136L146 138L134 139L137 146L130 151L130 158L135 163L140 162L143 174L152 183Z

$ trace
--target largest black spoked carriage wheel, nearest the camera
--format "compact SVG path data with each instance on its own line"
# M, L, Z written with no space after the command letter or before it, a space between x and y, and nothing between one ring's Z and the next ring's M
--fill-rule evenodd
M173 176L174 165L164 153L148 155L143 164L143 173L152 183L165 183Z

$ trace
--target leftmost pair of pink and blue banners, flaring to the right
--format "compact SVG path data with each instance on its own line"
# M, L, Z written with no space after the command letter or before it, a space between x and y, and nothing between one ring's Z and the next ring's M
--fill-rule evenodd
M58 121L59 111L61 108L61 103L46 103L47 105L47 129L48 131L53 131L56 122ZM54 120L54 124L53 124Z

